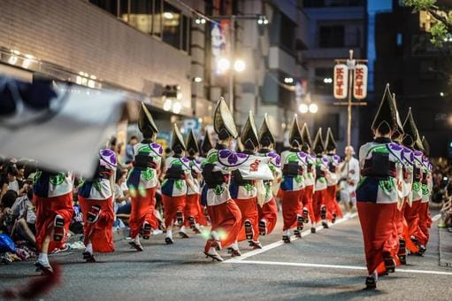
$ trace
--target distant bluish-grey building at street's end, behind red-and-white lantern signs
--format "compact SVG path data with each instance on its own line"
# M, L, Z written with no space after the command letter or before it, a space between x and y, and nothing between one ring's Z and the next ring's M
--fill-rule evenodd
M347 106L334 105L333 67L335 59L366 58L366 1L364 0L304 0L303 8L310 19L308 50L303 50L303 61L308 67L310 99L318 104L318 112L305 113L311 131L331 127L337 140L338 154L347 144ZM345 102L347 99L345 100ZM359 146L359 110L352 109L351 144Z

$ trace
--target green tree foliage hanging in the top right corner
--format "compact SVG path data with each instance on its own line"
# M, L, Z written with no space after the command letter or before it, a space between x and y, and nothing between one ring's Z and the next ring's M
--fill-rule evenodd
M452 38L452 14L448 14L436 3L436 0L403 0L404 6L413 8L413 12L429 12L437 22L431 27L431 42L436 46L442 46L443 42Z

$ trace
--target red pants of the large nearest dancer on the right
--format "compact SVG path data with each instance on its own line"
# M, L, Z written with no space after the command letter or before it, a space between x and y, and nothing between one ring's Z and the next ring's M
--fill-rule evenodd
M379 274L386 271L383 252L388 251L397 259L399 239L396 235L395 214L397 204L356 202L359 221L363 229L365 261L367 271Z

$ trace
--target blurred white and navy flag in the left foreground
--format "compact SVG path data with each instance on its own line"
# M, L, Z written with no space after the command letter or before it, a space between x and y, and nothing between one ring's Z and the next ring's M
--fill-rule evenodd
M91 176L125 104L119 92L0 74L0 156Z

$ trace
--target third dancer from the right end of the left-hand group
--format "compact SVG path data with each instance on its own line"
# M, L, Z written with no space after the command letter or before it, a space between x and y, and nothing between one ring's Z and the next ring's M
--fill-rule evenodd
M314 186L316 183L316 158L310 155L312 141L310 140L310 132L306 122L302 128L303 146L302 151L306 153L306 169L304 173L304 192L303 192L303 220L307 223L310 219L310 233L316 233L316 217L312 207L312 199L314 197ZM309 219L308 219L309 216Z

